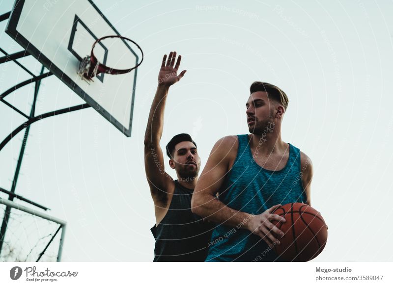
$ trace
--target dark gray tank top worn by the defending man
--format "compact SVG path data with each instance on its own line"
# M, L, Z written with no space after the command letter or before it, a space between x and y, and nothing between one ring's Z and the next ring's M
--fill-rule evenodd
M156 239L153 261L204 261L214 226L191 212L194 190L174 183L167 214L151 228Z

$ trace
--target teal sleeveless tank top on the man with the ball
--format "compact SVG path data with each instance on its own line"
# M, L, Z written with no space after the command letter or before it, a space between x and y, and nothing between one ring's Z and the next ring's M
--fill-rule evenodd
M278 204L306 203L298 148L289 144L285 167L270 171L254 161L248 134L237 138L237 156L219 190L220 201L229 208L251 214L260 214ZM217 225L208 246L205 261L281 261L260 236L241 229L241 225Z

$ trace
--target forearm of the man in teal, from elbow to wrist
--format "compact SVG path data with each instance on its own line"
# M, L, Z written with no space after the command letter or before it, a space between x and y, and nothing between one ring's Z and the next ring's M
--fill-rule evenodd
M231 227L248 228L248 222L253 214L227 207L223 202L208 193L194 193L191 201L193 213L205 217L210 221Z

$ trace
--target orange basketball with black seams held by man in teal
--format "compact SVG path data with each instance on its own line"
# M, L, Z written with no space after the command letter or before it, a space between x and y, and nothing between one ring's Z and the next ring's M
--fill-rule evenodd
M286 204L274 211L285 218L277 222L284 236L274 249L284 261L309 261L317 257L326 245L328 229L322 215L302 203Z

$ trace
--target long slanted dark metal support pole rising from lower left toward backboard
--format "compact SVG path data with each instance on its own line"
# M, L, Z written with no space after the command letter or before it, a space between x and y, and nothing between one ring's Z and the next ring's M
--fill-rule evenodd
M42 68L41 68L40 75L42 75L43 72L44 72L44 66L42 66ZM39 87L40 87L40 83L41 83L41 80L38 80L38 81L35 82L34 99L33 99L33 104L31 105L30 117L34 116L35 101L37 100L37 95L38 95L38 90L39 90ZM21 169L23 155L25 154L25 148L26 148L26 143L27 143L27 140L28 140L28 131L29 130L30 130L30 125L28 125L26 127L25 136L23 137L23 140L22 140L21 151L19 153L18 163L16 164L16 169L15 169L14 181L12 182L11 190L10 190L10 192L12 194L15 193L16 183L18 182L19 171ZM14 200L14 196L13 195L8 195L8 199L10 201L13 201ZM7 231L7 224L8 224L8 220L9 220L10 215L11 215L11 208L9 206L6 206L5 210L4 210L3 221L1 223L1 229L0 229L0 254L1 254L1 249L2 249L2 246L3 246L4 238L5 238L5 233Z

